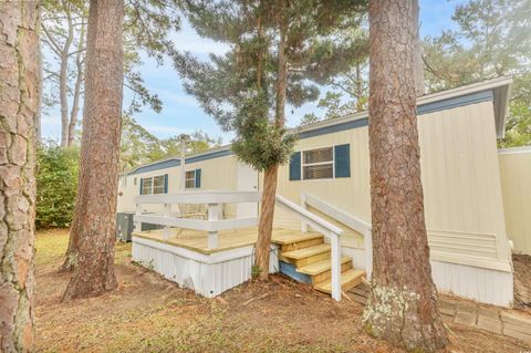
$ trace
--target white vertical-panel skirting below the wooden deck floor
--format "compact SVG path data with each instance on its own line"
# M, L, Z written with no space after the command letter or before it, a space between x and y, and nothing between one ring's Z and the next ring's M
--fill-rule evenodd
M270 273L279 269L277 247L271 247ZM221 294L251 278L253 247L205 255L159 241L133 237L133 260L170 281L207 298Z

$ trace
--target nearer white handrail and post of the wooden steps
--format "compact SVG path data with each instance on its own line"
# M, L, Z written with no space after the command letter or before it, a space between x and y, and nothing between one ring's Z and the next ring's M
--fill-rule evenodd
M341 300L341 243L340 237L343 233L343 229L332 225L331 222L322 219L321 217L303 209L301 206L288 200L287 198L277 195L277 204L296 214L302 221L309 224L315 230L323 233L330 239L331 246L331 261L332 261L332 298L336 301Z

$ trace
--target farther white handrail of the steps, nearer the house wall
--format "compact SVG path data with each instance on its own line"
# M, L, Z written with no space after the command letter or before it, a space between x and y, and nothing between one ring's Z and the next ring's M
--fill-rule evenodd
M302 194L301 206L304 209L306 209L308 206L313 207L320 212L337 220L348 228L354 229L363 236L363 245L365 250L365 272L367 273L367 278L371 279L371 274L373 272L372 225L312 195ZM301 229L302 231L308 231L308 224L302 222Z

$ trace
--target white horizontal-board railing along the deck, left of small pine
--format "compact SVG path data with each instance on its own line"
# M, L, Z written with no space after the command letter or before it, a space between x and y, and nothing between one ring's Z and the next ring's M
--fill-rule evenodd
M259 203L260 193L257 191L226 191L204 190L183 191L178 194L140 195L135 197L136 214L134 217L135 231L140 231L142 224L164 226L163 237L169 238L170 227L208 231L208 248L218 247L218 231L238 229L258 225L258 217L222 219L219 206L222 204ZM164 205L163 215L146 215L142 205ZM208 205L208 219L189 219L171 215L171 205L204 204Z

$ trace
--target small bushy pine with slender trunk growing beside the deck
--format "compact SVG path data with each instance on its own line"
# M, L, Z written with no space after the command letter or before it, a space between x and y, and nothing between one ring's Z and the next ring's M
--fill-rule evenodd
M256 264L266 279L278 167L296 138L287 133L285 105L316 100L316 83L363 55L363 45L337 34L358 24L365 1L187 1L185 9L200 35L230 45L210 63L184 54L176 69L186 91L235 133L238 158L264 173Z

